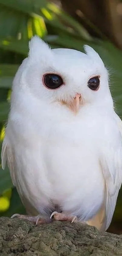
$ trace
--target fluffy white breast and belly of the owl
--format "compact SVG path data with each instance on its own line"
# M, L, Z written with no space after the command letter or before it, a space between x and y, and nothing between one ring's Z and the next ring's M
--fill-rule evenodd
M38 135L26 132L15 146L19 191L42 213L58 205L69 214L91 218L104 200L104 178L97 157L94 124L86 118L54 122ZM21 135L24 136L24 133ZM37 137L36 137L37 136Z

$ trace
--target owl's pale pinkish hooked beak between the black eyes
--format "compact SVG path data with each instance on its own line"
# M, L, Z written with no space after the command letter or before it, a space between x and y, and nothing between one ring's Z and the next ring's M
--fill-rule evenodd
M68 106L68 108L70 108L70 110L72 110L76 114L83 103L83 98L80 93L76 93L73 100L71 100L70 102L66 102L62 100L61 103L63 105Z

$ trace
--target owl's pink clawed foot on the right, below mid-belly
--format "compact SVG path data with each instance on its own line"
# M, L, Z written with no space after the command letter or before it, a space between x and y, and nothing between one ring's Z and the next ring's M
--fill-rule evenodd
M50 218L52 218L54 220L60 220L60 221L70 221L71 223L73 222L77 222L77 216L69 216L67 214L64 214L64 213L58 213L57 211L54 211Z

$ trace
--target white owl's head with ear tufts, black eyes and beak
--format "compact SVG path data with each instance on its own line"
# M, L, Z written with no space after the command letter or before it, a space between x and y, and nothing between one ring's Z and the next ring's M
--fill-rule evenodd
M86 104L104 105L112 98L108 73L97 52L51 49L37 36L29 42L21 85L40 101L58 102L75 113Z

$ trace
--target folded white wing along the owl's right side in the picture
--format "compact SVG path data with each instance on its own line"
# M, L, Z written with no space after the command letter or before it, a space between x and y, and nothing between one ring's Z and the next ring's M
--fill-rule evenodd
M106 143L106 148L101 154L100 164L106 183L105 207L106 215L103 222L105 230L112 220L118 193L122 184L122 121L115 113L115 120L120 131L118 147L111 148ZM115 137L116 140L116 137ZM101 227L102 229L102 227Z

